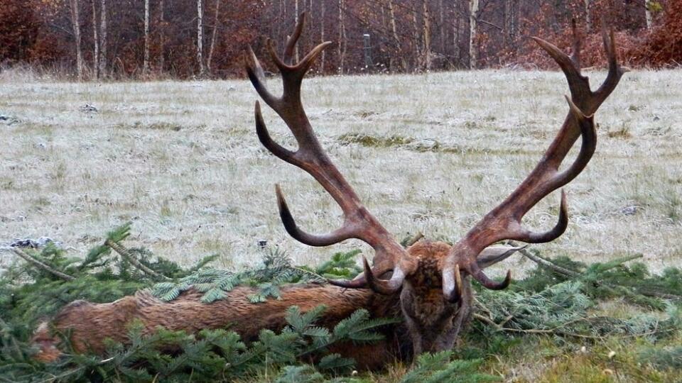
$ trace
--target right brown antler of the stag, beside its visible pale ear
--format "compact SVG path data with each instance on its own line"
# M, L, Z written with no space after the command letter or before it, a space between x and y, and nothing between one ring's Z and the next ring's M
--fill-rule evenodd
M570 98L566 97L569 106L568 116L531 174L507 199L502 201L502 204L487 213L462 240L453 246L443 265L443 294L446 299L456 301L459 298L460 288L457 279L460 276L455 275L459 272L458 269L472 275L488 289L504 289L509 285L511 271L507 272L507 277L503 282L494 282L483 272L479 255L487 246L505 239L526 243L546 243L558 238L568 226L568 208L563 191L558 223L550 231L544 233L529 231L521 226L521 218L538 201L578 176L595 152L597 135L593 115L615 89L622 74L627 72L627 68L618 65L613 31L607 33L606 29L602 28L602 37L609 60L609 73L596 91L590 89L588 77L580 74L580 39L575 22L573 23L572 57L541 38L533 38L557 62L568 80L570 89ZM578 157L568 169L559 172L559 165L578 140L579 135L582 137L582 144ZM489 260L487 262L490 263Z

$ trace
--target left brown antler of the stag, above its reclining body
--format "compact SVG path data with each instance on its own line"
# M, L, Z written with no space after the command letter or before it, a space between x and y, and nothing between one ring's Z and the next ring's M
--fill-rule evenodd
M267 89L263 69L251 48L249 48L250 60L247 60L247 73L251 84L254 85L261 99L276 111L291 130L298 143L298 150L288 150L272 140L261 115L261 106L258 101L256 101L255 106L256 133L261 143L272 154L305 170L328 191L341 207L344 223L331 233L323 235L306 233L296 225L281 188L276 185L279 214L286 231L293 238L306 245L328 246L349 238L357 238L368 243L376 253L374 269L369 267L367 260L364 260L364 275L352 281L330 281L330 283L342 287L369 286L381 294L390 294L401 287L406 273L413 271L416 265L408 258L404 248L381 226L377 218L374 218L362 206L355 191L337 170L328 155L325 154L313 132L313 128L310 126L310 121L308 121L308 116L305 115L301 103L301 82L303 82L305 73L310 70L318 55L331 43L321 43L313 48L308 55L305 55L300 62L294 63L293 49L303 30L304 21L305 13L302 13L294 33L288 38L283 58L280 58L275 52L272 41L267 40L270 57L278 67L282 77L284 90L281 97L274 96ZM381 274L391 270L393 275L390 280L378 278Z

